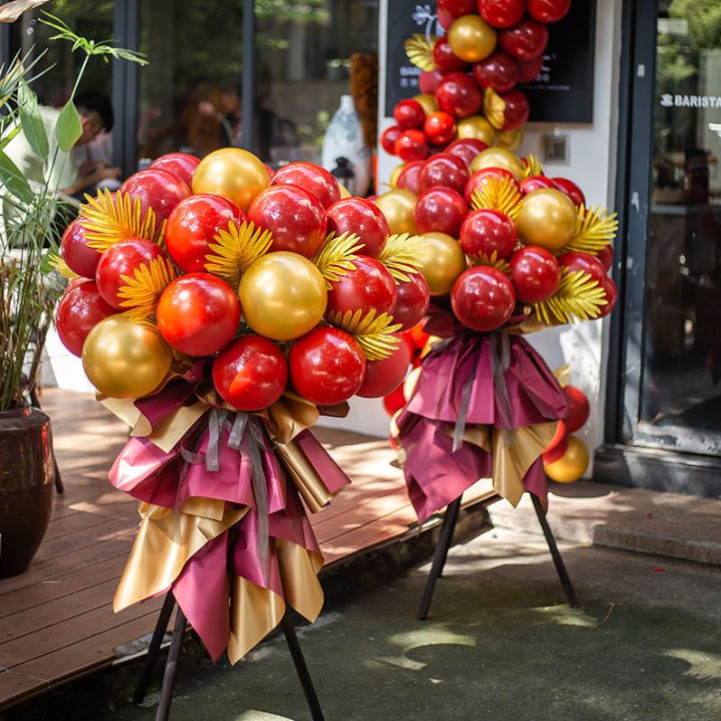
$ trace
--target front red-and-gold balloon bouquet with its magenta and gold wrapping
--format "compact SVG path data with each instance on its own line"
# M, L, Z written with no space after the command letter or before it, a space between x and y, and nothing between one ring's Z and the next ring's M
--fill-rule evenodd
M244 150L157 159L88 197L57 309L99 399L132 427L111 482L141 501L116 610L171 590L217 658L290 603L320 611L306 510L348 480L308 429L405 375L420 240L327 171ZM304 503L301 503L301 498Z

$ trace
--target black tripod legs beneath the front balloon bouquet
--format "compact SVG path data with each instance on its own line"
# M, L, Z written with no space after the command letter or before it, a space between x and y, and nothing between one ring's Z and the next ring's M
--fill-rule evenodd
M163 602L163 606L157 616L157 623L155 631L153 631L153 637L150 640L150 644L147 648L147 656L143 663L143 668L140 669L140 675L138 677L138 684L133 694L133 704L139 706L145 700L147 694L147 687L150 682L150 678L153 675L153 670L156 667L157 655L160 652L160 646L163 642L163 638L166 634L168 624L170 623L170 616L173 614L173 609L176 606L176 599L173 596L173 592L166 593L166 600ZM156 721L166 721L170 714L170 704L173 700L173 689L176 686L177 678L177 665L180 659L180 653L183 648L183 638L185 636L185 627L187 625L187 619L185 613L178 607L176 612L176 620L173 624L173 636L170 641L170 649L168 650L166 669L163 674L163 684L160 688L160 698L157 704ZM306 701L308 702L308 709L310 710L310 716L313 721L324 721L323 711L320 708L318 702L318 695L316 689L313 686L313 681L310 678L308 672L308 665L306 659L303 657L303 651L300 648L298 636L296 635L293 621L289 618L289 613L285 612L281 621L283 627L283 633L285 634L286 642L288 643L288 649L290 651L290 657L293 659L293 665L298 675L300 686L303 688Z

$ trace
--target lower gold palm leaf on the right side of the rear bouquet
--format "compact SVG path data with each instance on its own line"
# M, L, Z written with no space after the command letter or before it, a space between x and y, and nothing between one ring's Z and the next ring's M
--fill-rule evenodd
M549 326L598 318L606 305L606 291L583 270L561 270L562 278L551 298L534 303L536 317Z

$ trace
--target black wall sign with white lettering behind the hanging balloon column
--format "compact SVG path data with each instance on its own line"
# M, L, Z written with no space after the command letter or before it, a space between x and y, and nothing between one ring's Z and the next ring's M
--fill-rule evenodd
M421 71L405 56L403 43L414 33L441 35L435 3L387 0L385 115L399 100L413 98ZM574 0L569 13L549 25L550 41L536 81L522 86L531 104L530 121L593 122L593 58L596 0Z

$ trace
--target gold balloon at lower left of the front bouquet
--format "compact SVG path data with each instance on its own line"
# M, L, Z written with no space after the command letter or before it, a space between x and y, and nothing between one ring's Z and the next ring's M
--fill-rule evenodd
M118 314L101 320L82 346L85 375L101 394L140 398L166 377L173 351L157 328Z

